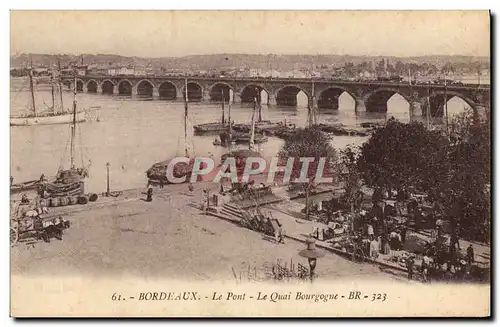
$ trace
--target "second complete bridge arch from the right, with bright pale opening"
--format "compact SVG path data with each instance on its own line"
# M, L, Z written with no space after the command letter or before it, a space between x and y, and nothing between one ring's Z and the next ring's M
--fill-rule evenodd
M410 116L410 99L396 88L378 88L364 96L367 112ZM391 102L389 104L389 102ZM395 103L393 103L395 102Z

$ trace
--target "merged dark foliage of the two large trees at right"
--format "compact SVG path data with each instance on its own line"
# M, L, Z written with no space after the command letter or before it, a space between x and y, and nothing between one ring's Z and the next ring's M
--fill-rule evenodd
M460 115L451 134L389 120L361 147L364 182L382 190L418 191L439 203L452 233L487 241L490 231L491 126L477 111Z

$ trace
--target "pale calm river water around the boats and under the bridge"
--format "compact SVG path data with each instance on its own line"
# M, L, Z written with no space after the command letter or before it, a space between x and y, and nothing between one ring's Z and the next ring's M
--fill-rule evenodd
M30 108L30 93L26 81L11 81L11 114L26 112ZM51 92L45 87L38 89L35 103L38 110L51 103ZM73 95L63 92L63 103L71 107ZM134 97L79 93L79 108L100 106L100 121L79 124L76 139L76 164L90 166L90 177L86 191L106 190L106 163L110 163L110 187L112 190L145 187L145 171L157 161L183 155L184 104L179 101L141 100ZM448 102L449 113L464 110L465 102L457 98ZM320 122L340 122L354 126L363 121L380 121L395 117L409 121L409 105L400 96L393 96L388 102L387 114L358 113L354 111L354 100L345 93L340 97L338 111L321 111ZM299 93L297 107L268 107L262 105L264 119L273 121L286 119L297 126L307 120L307 97ZM190 103L189 124L219 120L219 103ZM227 115L227 108L226 108ZM231 106L231 119L235 123L251 120L251 104ZM226 116L227 117L227 116ZM220 158L227 152L223 147L212 145L215 136L193 136L189 129L189 146L194 155ZM70 162L69 125L45 125L31 127L11 127L11 176L14 183L38 179L42 173L54 176L59 166L67 168ZM361 145L367 137L336 136L332 144L344 148L348 144ZM260 151L265 156L274 156L283 141L269 138L261 144ZM240 146L244 147L244 146Z

